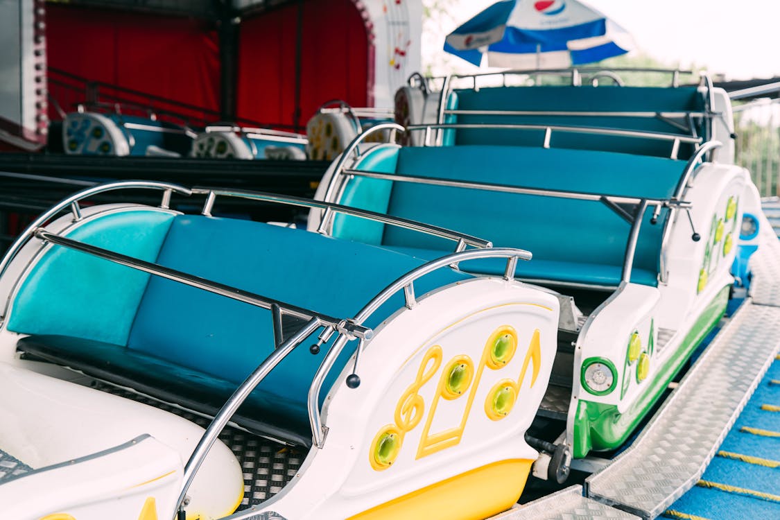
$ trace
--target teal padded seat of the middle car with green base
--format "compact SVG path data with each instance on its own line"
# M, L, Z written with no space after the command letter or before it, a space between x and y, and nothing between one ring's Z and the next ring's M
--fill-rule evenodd
M591 150L475 145L400 148L395 158L395 173L664 199L672 196L685 165L685 161L662 157ZM392 184L386 205L371 207L367 200L362 200L361 207L365 209L475 235L497 247L529 250L534 258L518 266L520 278L619 284L630 226L602 203L365 180ZM360 189L363 184L349 181L344 196L361 200L356 193ZM662 210L658 223L651 225L651 210L646 213L632 271L631 280L636 283L658 283L666 217L667 210ZM336 227L334 230L337 231ZM371 240L376 237L372 235ZM451 248L451 242L443 239L391 227L385 227L381 244L419 258L431 258ZM503 265L480 260L464 264L464 269L502 274Z

